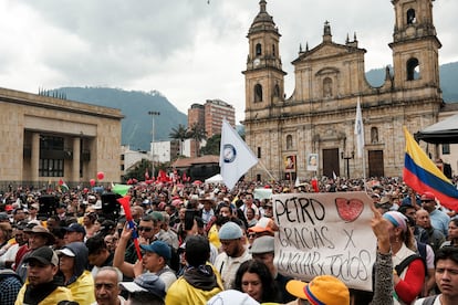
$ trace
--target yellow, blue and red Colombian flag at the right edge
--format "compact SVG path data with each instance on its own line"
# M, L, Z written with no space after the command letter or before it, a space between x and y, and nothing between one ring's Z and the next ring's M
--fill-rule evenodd
M441 206L458 211L458 190L456 187L428 158L405 126L404 135L406 138L406 156L403 179L406 185L418 193L433 192L439 199Z

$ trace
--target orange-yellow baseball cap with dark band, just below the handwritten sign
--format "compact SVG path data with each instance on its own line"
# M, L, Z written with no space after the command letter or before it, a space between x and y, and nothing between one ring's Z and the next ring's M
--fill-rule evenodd
M313 304L347 305L350 292L345 284L332 275L319 275L310 283L291 280L287 283L287 291Z

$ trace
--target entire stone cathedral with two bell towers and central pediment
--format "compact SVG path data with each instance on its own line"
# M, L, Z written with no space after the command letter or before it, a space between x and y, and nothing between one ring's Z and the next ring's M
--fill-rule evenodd
M433 23L434 0L393 0L395 24L393 69L385 82L372 86L365 78L364 54L356 38L333 41L326 22L322 42L300 50L294 66L295 88L284 94L280 32L267 12L267 2L249 31L246 78L246 140L261 165L248 176L277 179L402 176L403 126L416 133L438 120L449 107L439 87L441 46ZM386 2L388 6L388 1ZM392 28L393 24L386 24ZM355 116L361 102L364 122L364 162L357 158ZM437 151L431 149L433 155ZM437 150L437 149L436 149ZM436 155L437 156L437 155ZM318 157L316 168L306 160ZM287 162L288 161L288 162Z

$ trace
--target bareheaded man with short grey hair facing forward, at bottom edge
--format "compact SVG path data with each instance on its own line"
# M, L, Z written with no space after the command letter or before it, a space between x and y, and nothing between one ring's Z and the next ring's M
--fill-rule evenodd
M119 295L119 283L123 274L116 267L104 266L94 277L95 301L92 305L125 305L126 301Z

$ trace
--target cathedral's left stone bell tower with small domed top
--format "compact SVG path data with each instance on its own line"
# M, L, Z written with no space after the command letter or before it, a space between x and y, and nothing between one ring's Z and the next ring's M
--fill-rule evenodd
M279 52L280 33L273 19L266 11L267 2L259 2L260 11L248 31L246 120L268 117L269 109L284 101L284 81Z

